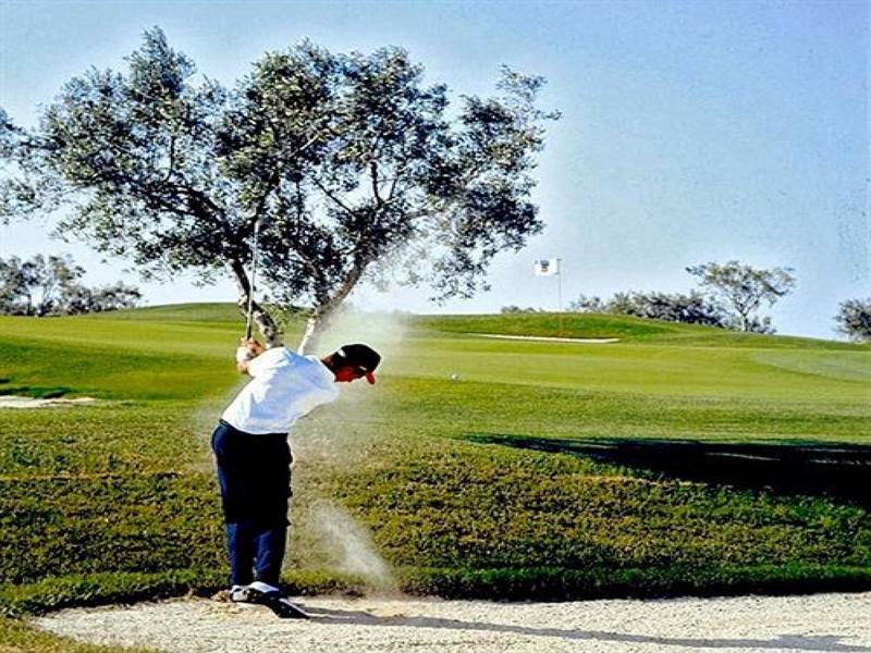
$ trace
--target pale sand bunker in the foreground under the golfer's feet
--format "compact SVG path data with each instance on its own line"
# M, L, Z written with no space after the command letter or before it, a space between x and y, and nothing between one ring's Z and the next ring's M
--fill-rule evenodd
M866 651L871 592L812 596L491 603L304 599L308 621L208 600L69 609L36 619L90 642L163 651Z

